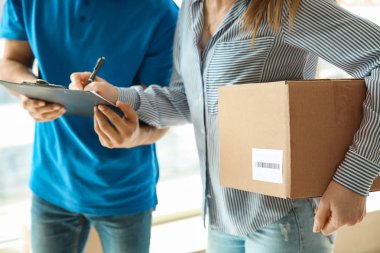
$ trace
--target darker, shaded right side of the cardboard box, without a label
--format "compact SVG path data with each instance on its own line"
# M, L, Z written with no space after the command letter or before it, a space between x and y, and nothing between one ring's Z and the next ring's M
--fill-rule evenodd
M319 196L362 118L363 81L289 82L291 197Z

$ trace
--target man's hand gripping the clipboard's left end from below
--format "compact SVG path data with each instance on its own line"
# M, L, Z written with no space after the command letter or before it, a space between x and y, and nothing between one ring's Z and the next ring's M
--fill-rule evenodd
M30 99L20 95L22 106L35 121L47 122L62 116L66 109L59 104L46 103L45 101Z

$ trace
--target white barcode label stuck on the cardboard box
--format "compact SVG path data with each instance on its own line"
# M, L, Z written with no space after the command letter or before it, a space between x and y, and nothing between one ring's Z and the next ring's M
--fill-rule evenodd
M284 152L276 149L252 149L252 179L282 184Z

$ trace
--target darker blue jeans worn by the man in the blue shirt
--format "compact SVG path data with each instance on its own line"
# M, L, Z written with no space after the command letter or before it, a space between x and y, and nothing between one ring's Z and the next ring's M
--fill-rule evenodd
M152 210L94 217L72 213L36 196L32 199L32 250L35 253L83 252L91 225L105 253L149 252Z

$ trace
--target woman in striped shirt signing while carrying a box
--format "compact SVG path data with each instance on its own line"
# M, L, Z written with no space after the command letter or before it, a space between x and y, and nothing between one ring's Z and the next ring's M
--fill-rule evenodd
M208 252L331 252L327 235L362 220L380 171L379 38L378 26L333 0L187 0L177 25L169 88L115 88L98 79L87 89L132 105L140 120L158 128L193 123L209 214ZM310 199L279 199L220 185L217 88L312 79L318 56L365 78L368 92L362 125L313 222ZM81 88L88 76L74 74L72 87ZM117 143L123 125L125 120L109 109L96 109L95 129L104 145Z

